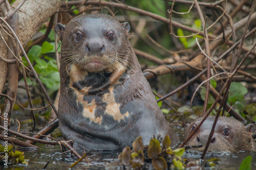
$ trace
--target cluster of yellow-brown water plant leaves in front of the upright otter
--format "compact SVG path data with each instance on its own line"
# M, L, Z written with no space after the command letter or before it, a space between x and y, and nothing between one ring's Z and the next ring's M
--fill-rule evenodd
M133 152L130 147L126 147L118 158L123 165L131 165L134 169L143 168L147 166L146 163L152 163L155 169L184 169L186 165L181 156L185 148L172 150L170 143L168 135L162 140L162 147L159 139L155 137L151 139L149 145L143 145L142 137L138 137L133 142Z

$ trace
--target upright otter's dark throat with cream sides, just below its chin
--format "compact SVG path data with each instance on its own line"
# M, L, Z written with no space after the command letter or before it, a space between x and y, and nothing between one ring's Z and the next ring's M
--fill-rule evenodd
M70 76L69 87L79 91L82 94L96 94L104 91L118 83L118 80L123 76L126 67L122 64L116 64L116 69L113 72L86 72L72 65L67 72Z

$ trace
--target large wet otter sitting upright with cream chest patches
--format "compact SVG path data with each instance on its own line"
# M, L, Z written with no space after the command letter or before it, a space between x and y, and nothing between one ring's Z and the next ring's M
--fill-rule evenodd
M178 142L127 39L129 23L80 15L55 30L62 43L59 128L76 150L122 149L138 136Z

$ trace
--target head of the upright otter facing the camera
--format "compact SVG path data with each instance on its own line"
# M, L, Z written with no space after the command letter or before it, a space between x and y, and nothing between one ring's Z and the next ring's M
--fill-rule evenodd
M79 15L66 27L58 23L55 31L62 42L61 63L87 72L114 72L127 65L127 22L104 14Z

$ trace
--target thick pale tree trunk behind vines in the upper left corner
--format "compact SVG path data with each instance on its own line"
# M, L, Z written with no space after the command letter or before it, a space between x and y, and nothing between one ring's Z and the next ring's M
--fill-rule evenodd
M24 0L16 0L12 5L16 8ZM31 40L32 36L38 31L42 23L52 16L63 0L27 0L18 10L18 38L22 42L23 47ZM2 4L2 6L5 5ZM2 11L1 11L2 12ZM1 29L3 37L7 41L7 34ZM7 58L8 48L0 38L0 57ZM3 91L8 76L7 64L0 60L0 93Z

